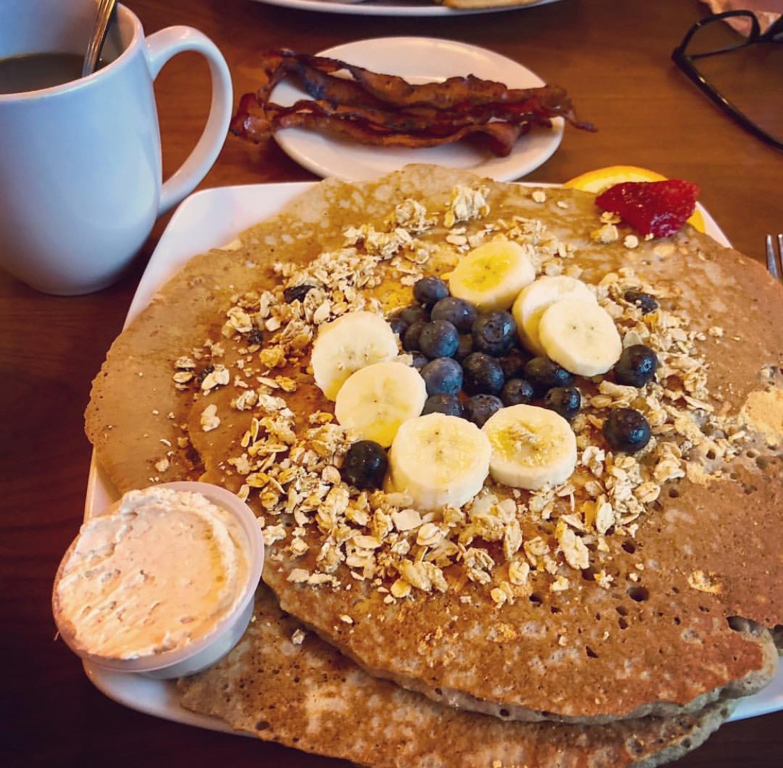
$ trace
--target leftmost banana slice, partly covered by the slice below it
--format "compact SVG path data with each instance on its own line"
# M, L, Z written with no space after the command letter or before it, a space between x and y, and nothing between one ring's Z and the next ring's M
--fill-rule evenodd
M397 337L373 312L348 312L320 327L310 364L316 384L330 400L359 368L396 357Z

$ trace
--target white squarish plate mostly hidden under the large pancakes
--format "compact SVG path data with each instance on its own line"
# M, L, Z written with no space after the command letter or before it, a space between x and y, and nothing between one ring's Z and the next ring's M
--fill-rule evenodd
M312 182L227 186L205 189L188 197L171 218L150 258L128 310L126 325L189 258L230 243L244 229L276 214L289 200L311 186ZM729 245L727 237L709 213L701 206L699 210L704 216L707 233L723 245ZM93 459L88 478L85 518L104 510L117 496L116 490ZM88 664L85 664L85 672L103 694L129 709L177 723L240 733L232 731L221 719L182 709L175 683L171 680L111 672ZM783 665L766 689L740 702L731 719L755 717L779 709L783 709Z

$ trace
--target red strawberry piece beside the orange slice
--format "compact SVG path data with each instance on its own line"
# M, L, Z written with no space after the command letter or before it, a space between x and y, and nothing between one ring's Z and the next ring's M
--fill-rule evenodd
M693 214L698 186L679 178L662 182L621 182L596 197L604 211L622 217L641 235L666 237L679 232Z

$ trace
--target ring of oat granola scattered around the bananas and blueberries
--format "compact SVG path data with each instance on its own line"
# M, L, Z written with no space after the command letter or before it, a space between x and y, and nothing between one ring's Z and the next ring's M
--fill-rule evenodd
M532 199L543 204L547 194L534 192ZM473 222L471 233L458 226L463 222ZM600 227L585 236L618 240L615 223L604 215ZM420 240L438 228L437 244ZM673 289L648 285L624 268L594 286L597 300L626 346L647 344L655 351L657 376L638 389L610 378L584 381L585 407L572 422L578 458L571 478L533 493L488 479L464 507L426 513L413 509L405 494L353 489L340 474L352 434L329 410L306 415L289 402L309 376L309 349L320 325L346 312L384 315L410 303L416 279L448 272L463 251L496 236L524 247L537 274L578 277L581 268L573 263L572 246L543 222L493 217L481 187L454 189L445 211L403 200L381 229L359 223L342 235L343 247L307 265L276 264L276 289L236 294L220 336L183 351L172 366L177 388L205 398L204 431L227 418L209 402L212 393L233 388L230 405L220 408L246 419L247 430L240 451L226 456L223 466L240 478L240 497L262 508L269 557L285 553L301 563L290 570L290 582L347 589L352 579L366 580L392 602L456 589L467 579L484 586L499 609L529 596L534 585L554 593L572 590L585 571L610 589L619 579L632 580L615 568L612 540L633 539L644 517L657 514L666 485L680 478L720 481L727 477L727 460L744 451L749 438L743 422L725 415L710 395L700 351L708 334L716 339L722 331L694 330L687 312L668 301L677 298ZM626 238L624 244L635 248L638 240ZM291 290L295 287L306 290ZM640 291L655 297L655 311L644 313L626 300ZM199 369L206 373L199 375ZM769 397L778 398L773 405L779 409L779 391ZM752 405L745 423L757 413ZM608 412L620 407L639 410L650 424L651 441L637 454L613 453L601 437ZM288 517L295 526L284 522ZM633 579L642 577L642 571L633 573ZM694 589L713 591L718 583L714 575L691 574ZM342 620L350 623L348 616Z

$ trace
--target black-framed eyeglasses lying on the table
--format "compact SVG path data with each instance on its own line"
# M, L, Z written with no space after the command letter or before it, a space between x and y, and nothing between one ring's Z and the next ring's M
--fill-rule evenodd
M714 23L720 23L724 19L731 17L742 17L749 21L750 32L747 38L741 38L739 40L732 41L728 45L719 45L716 48L712 48L709 44L705 45L705 39L712 38L712 35L705 34L704 31L707 27L712 27ZM721 26L723 26L721 24ZM737 106L734 106L726 96L723 96L712 82L710 82L705 74L700 71L696 65L699 59L705 59L708 56L718 56L721 53L729 53L732 51L738 51L740 49L747 48L749 45L755 45L756 43L773 43L780 39L783 41L783 16L776 20L766 32L762 34L761 27L759 26L759 20L756 18L756 14L751 11L724 11L723 13L716 13L713 16L707 16L705 19L695 23L685 34L683 41L672 52L672 59L677 67L680 67L688 78L690 78L698 88L701 88L703 92L720 107L724 112L731 115L735 121L742 125L747 131L761 139L767 144L771 144L783 150L783 141L774 137L768 133L764 128L761 128L759 124L748 117Z

